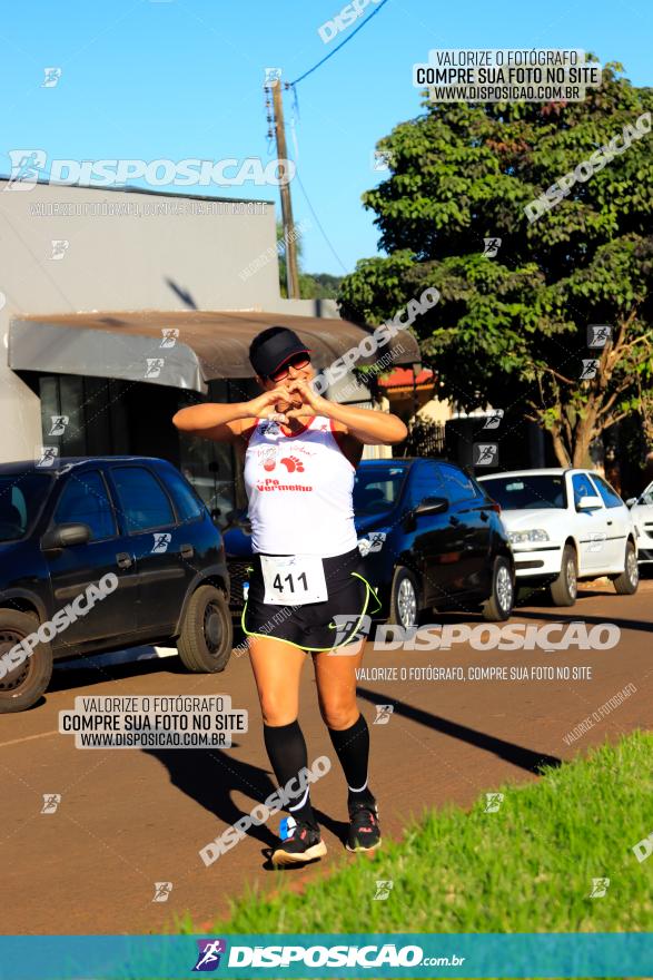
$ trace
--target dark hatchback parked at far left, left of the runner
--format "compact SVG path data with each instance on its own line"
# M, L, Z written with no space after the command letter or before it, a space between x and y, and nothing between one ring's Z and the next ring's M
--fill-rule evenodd
M98 598L100 581L112 590ZM0 712L33 705L52 661L75 654L176 641L189 670L224 670L228 598L220 531L166 460L0 464Z

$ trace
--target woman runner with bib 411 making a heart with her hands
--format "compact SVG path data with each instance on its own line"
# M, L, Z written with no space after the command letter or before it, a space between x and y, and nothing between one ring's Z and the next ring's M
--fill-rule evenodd
M347 781L347 849L372 851L380 831L367 778L369 732L356 705L363 658L356 631L370 589L358 571L352 491L363 445L402 442L407 430L396 415L318 395L310 385L309 353L286 327L263 331L249 359L264 393L244 403L182 409L172 422L231 442L245 458L254 557L243 627L277 781L288 786L308 767L297 715L299 678L310 653L320 714ZM344 646L345 656L329 654ZM273 863L326 854L308 790L287 808Z

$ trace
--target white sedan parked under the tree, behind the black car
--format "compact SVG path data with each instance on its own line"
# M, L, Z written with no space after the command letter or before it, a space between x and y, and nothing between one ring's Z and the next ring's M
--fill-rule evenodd
M606 575L620 595L637 590L637 531L598 473L515 470L478 482L501 506L521 586L548 585L556 606L574 605L578 579Z

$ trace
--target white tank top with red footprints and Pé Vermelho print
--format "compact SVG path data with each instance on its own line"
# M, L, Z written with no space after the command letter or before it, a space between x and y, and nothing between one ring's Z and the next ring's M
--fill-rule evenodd
M244 474L253 551L330 558L356 548L355 472L330 419L315 415L296 435L259 419Z

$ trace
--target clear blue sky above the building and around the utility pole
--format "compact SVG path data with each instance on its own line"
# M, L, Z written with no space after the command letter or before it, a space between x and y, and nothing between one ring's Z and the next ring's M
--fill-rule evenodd
M325 45L318 28L342 0L32 0L9 4L0 26L2 151L42 148L50 159L261 157L267 159L263 71L294 80L356 24ZM369 3L363 17L375 10ZM347 271L377 252L373 215L360 195L375 174L375 143L418 115L412 66L431 48L584 48L622 61L634 85L651 85L651 0L388 0L369 24L298 87L298 166L334 249ZM44 67L61 67L43 88ZM286 120L293 100L286 95ZM295 141L288 126L290 154ZM169 188L175 189L175 188ZM191 190L190 193L195 193ZM275 198L276 188L197 188ZM304 268L342 266L293 184Z

